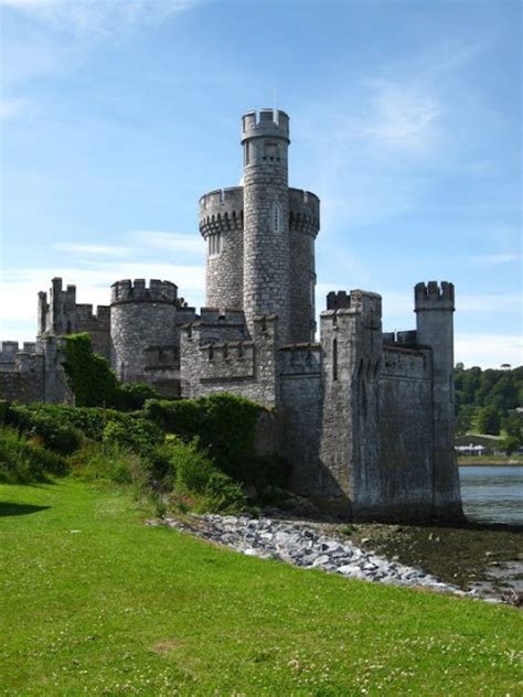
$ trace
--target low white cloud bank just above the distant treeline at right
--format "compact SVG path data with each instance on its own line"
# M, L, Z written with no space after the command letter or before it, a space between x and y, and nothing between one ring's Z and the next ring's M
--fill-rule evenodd
M466 367L499 368L502 363L513 367L523 364L523 341L520 334L458 333L456 363Z

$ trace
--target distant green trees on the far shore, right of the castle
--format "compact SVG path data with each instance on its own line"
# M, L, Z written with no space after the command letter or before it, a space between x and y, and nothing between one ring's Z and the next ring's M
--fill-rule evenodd
M505 449L521 446L523 415L516 409L523 405L523 366L482 371L458 363L453 375L456 433L503 435Z

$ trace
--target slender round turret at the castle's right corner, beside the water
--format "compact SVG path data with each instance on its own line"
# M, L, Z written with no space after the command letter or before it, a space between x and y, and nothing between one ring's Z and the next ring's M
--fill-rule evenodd
M452 283L417 283L414 289L418 344L433 349L434 507L440 518L462 516L455 452Z

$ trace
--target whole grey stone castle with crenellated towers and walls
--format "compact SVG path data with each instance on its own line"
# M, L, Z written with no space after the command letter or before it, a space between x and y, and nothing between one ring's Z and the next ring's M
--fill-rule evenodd
M242 118L243 185L200 200L206 304L170 281L119 280L110 307L75 287L39 293L34 344L3 342L4 398L63 401L60 337L88 332L122 382L166 396L213 392L275 407L290 487L355 518L461 516L453 451L453 287L415 288L416 329L382 332L381 297L330 292L316 336L320 202L288 185L289 118Z

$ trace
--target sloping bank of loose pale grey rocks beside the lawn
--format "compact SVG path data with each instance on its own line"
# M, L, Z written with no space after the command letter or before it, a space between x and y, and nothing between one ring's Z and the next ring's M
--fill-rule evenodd
M365 581L469 594L421 569L389 561L373 551L355 547L348 539L327 536L297 522L247 515L202 515L193 516L193 519L194 527L177 518L164 518L163 524L226 545L247 556L278 559L306 569L322 569Z

